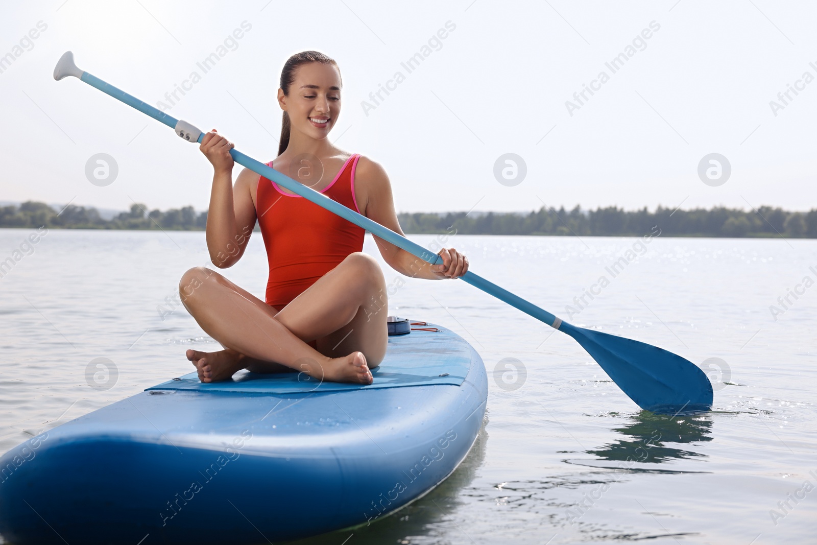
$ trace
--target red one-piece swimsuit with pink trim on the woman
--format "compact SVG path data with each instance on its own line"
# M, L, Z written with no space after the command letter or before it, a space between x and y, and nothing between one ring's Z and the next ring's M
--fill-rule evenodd
M335 179L321 193L360 212L355 200L358 159L359 154L346 159ZM272 161L267 164L273 166ZM278 184L263 176L258 180L257 216L270 264L266 304L278 310L350 253L363 250L365 231L362 227L300 195L284 193Z

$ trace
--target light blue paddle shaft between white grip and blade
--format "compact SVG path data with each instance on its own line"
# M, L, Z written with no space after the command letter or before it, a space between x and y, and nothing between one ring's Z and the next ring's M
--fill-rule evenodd
M97 78L93 74L89 74L87 72L83 72L82 78L83 82L87 83L92 87L96 87L101 92L104 92L106 95L113 96L118 101L123 101L125 104L131 106L134 109L138 109L141 111L142 114L149 115L151 118L156 119L157 121L164 123L167 127L172 127L176 130L176 125L179 123L179 120L173 118L170 115L165 114L160 109L151 106L143 101L140 101L136 98L136 96L132 96L124 92L122 89L118 87L114 87L110 83L107 83L100 78ZM197 142L201 143L202 139L204 138L204 133L201 132L199 134L199 138L196 139ZM192 140L192 139L191 139ZM278 172L274 168L267 166L256 159L252 159L252 157L248 156L247 154L241 153L239 150L230 150L230 155L233 156L233 159L236 163L239 163L241 166L249 168L252 172L256 172L260 176L264 176L268 180L275 181L278 185L283 185L286 189L292 191L292 193L299 194L304 199L308 199L313 203L317 204L319 207L326 208L329 212L333 212L338 216L342 217L345 220L348 220L354 223L356 226L362 227L368 232L372 233L373 235L377 235L383 240L390 242L397 246L398 248L403 248L406 252L411 253L412 255L419 257L423 261L427 261L431 263L431 265L436 265L440 262L440 256L423 248L417 243L413 243L411 240L406 239L404 236L395 233L395 231L384 227L377 223L377 221L370 220L368 217L365 217L354 210L343 206L341 203L333 199L329 199L326 195L319 193L318 191L313 190L310 187L306 187L306 185L300 184L297 181L292 180L289 176ZM507 304L511 306L515 306L522 312L533 316L534 318L541 320L545 324L551 325L554 328L559 328L561 324L561 320L557 319L555 315L552 315L547 310L539 308L538 306L525 301L522 297L518 297L513 293L507 291L507 289L500 288L497 284L493 284L493 282L489 282L488 280L482 278L475 273L472 273L470 270L467 271L465 275L461 277L465 280L468 284L471 284L475 288L480 288L485 293L489 293L493 295L493 297L497 297L503 302L507 302Z

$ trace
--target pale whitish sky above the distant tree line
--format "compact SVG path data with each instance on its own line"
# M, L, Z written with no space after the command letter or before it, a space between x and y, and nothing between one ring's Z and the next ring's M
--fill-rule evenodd
M208 206L212 171L197 147L75 78L54 81L64 51L154 105L197 72L168 113L217 127L266 162L277 151L283 62L317 49L344 83L329 137L382 163L400 212L542 201L807 210L817 206L815 20L813 2L770 0L3 2L0 200ZM242 38L229 38L242 24ZM197 63L225 39L204 74ZM408 73L401 63L416 53L426 56ZM614 72L605 63L621 53ZM396 72L404 79L365 111ZM596 91L579 104L584 85ZM569 112L566 101L581 107ZM86 178L97 153L118 163L110 185ZM494 176L507 153L526 163L517 185ZM712 153L731 165L722 185L698 175Z

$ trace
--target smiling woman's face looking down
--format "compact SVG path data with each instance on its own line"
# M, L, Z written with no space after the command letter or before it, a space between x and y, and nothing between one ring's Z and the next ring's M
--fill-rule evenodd
M289 96L279 89L278 101L289 114L291 130L322 140L341 113L341 74L335 65L320 62L298 66Z

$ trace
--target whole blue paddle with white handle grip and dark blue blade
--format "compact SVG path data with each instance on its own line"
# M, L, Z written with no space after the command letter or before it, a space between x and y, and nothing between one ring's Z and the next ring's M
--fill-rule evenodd
M143 114L150 115L150 117L168 127L172 127L176 134L186 141L201 142L204 137L204 133L190 123L172 118L136 97L128 95L126 92L109 85L109 83L105 83L100 78L78 69L77 65L74 64L74 54L71 51L66 51L60 57L54 69L54 78L56 80L66 76L79 78L101 92L105 92L115 99L138 109ZM361 216L341 203L329 199L324 194L320 194L306 187L306 185L292 180L292 178L248 157L239 150L230 150L230 154L233 156L234 161L243 165L243 167L249 168L279 185L283 185L293 193L299 194L301 197L326 208L329 212L333 212L355 225L363 227L373 235L403 248L406 252L428 261L432 265L440 261L438 255L419 244L413 243L393 230L368 219L368 217ZM573 337L641 409L653 412L679 413L681 411L708 410L712 407L712 384L709 382L708 377L695 364L685 360L680 355L645 342L616 337L592 329L579 328L563 322L561 319L556 318L555 315L547 312L547 310L543 310L506 289L475 275L471 270L462 275L461 278L485 293L489 293L511 306L516 306L519 310L541 320L552 328Z

